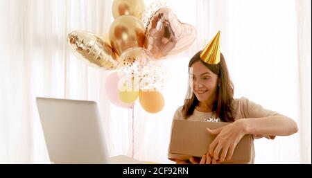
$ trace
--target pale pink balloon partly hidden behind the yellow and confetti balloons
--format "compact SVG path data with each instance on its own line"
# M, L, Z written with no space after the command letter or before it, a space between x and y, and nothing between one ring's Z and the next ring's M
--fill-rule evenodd
M133 103L123 103L119 99L118 82L119 77L117 72L110 73L110 75L107 76L105 82L105 92L107 94L107 97L110 99L110 102L112 104L118 107L129 109L133 106Z

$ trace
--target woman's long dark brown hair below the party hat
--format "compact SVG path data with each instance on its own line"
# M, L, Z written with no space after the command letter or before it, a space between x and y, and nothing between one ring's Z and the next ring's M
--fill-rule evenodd
M217 89L217 100L214 102L213 111L216 111L216 116L223 122L234 122L232 100L234 96L234 84L229 78L229 71L227 71L227 64L223 54L220 55L220 62L218 64L207 64L200 59L200 52L196 53L189 61L189 67L195 62L202 62L207 68L218 75L220 86ZM195 94L192 94L190 99L184 100L182 114L185 118L189 118L194 112L199 101Z

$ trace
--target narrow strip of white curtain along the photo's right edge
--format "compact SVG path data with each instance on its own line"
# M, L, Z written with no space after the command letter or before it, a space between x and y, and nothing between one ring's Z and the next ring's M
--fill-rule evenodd
M300 161L311 163L311 1L297 1Z

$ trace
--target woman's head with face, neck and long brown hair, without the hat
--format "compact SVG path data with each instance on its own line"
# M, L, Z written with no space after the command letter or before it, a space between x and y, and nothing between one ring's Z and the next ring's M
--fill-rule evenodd
M215 112L223 122L234 122L231 103L234 86L222 53L218 64L207 64L198 51L189 61L189 87L182 112L189 118L196 109L199 112Z

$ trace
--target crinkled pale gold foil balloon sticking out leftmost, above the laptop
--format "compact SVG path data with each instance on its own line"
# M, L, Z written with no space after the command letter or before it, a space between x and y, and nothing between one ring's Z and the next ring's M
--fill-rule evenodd
M101 37L85 31L73 31L68 42L74 55L90 66L113 70L117 67L117 55Z

